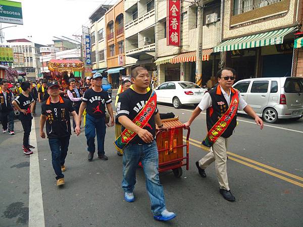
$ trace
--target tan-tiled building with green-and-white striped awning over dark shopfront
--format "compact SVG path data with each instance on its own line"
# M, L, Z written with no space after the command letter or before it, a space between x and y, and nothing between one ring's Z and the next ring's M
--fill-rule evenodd
M223 2L224 65L235 68L237 79L303 75L302 48L293 48L302 25L302 1L227 0Z

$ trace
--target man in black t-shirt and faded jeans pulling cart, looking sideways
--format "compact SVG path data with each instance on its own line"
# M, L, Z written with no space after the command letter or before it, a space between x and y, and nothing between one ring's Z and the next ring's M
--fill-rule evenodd
M167 128L161 122L157 107L144 128L140 128L132 122L144 108L153 91L149 89L150 76L145 68L134 68L131 72L131 80L133 85L119 95L116 115L116 120L123 126L122 131L127 128L137 134L123 150L122 188L125 192L124 198L127 202L135 200L133 190L136 183L136 168L141 161L154 218L167 221L174 218L176 214L169 212L165 206L158 171L159 154L155 141L156 124L160 130L167 130Z

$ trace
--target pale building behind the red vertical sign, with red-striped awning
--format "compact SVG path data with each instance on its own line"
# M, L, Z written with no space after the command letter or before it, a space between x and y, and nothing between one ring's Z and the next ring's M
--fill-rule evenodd
M167 45L168 1L156 0L156 42L158 81L195 82L197 49L197 7L193 3L181 3L180 46ZM221 1L205 5L203 18L203 84L210 80L219 67L220 54L212 54L213 47L221 41Z

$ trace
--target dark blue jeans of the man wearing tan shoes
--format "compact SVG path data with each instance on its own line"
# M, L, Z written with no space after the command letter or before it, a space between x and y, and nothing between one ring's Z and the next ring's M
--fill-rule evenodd
M57 175L56 180L64 178L61 171L61 166L64 165L68 151L70 136L61 138L48 138L49 147L52 151L52 164Z

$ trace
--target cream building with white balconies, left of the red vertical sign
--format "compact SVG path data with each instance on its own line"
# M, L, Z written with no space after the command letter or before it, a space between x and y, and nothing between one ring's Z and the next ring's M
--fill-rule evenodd
M155 0L125 0L125 54L126 65L144 66L155 71Z

